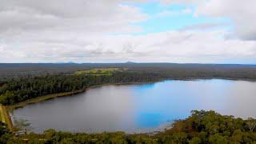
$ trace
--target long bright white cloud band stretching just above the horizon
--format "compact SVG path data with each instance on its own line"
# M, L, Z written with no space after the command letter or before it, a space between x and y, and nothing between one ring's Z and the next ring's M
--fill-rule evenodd
M15 62L236 62L254 59L256 42L224 39L223 31L170 31L142 36L82 36L34 39L14 51ZM17 46L17 45L16 45ZM10 47L12 46L10 43ZM10 50L6 50L10 54ZM5 58L5 59L4 59Z

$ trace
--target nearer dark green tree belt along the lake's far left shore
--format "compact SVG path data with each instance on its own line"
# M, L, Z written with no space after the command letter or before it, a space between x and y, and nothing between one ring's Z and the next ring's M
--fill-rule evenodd
M47 94L85 90L106 83L150 82L161 78L158 74L114 73L113 75L48 75L34 78L15 78L0 85L0 103L14 105Z

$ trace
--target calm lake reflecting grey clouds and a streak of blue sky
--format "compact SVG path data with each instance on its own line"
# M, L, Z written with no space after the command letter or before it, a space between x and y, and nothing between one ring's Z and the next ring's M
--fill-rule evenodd
M100 86L74 96L54 98L14 110L34 132L53 128L71 132L163 130L190 110L215 110L240 118L256 116L256 82L223 79L166 80L140 85Z

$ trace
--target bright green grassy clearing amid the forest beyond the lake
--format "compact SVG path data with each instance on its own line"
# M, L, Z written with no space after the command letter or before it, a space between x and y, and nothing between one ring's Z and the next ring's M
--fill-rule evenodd
M88 74L88 75L111 75L116 71L122 71L119 68L102 68L91 70L78 70L75 74Z

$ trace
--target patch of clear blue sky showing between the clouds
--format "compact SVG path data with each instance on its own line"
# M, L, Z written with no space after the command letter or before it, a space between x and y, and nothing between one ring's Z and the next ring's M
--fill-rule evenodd
M229 18L207 18L204 16L196 16L193 5L174 4L164 5L159 2L149 3L124 3L128 6L136 6L144 14L148 14L150 18L146 21L134 23L134 26L141 26L142 31L135 34L150 34L165 32L170 30L182 30L186 26L195 26L202 23L215 23L218 29L232 30L232 22Z

